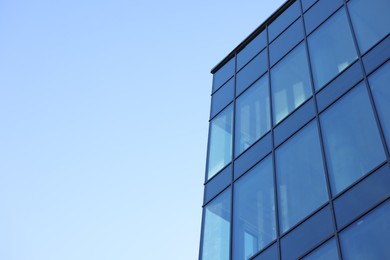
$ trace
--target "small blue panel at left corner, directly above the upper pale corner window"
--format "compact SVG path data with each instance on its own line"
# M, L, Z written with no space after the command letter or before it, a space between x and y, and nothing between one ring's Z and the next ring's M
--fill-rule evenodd
M211 114L215 116L225 106L227 106L234 98L234 78L231 78L222 88L213 94L211 97Z

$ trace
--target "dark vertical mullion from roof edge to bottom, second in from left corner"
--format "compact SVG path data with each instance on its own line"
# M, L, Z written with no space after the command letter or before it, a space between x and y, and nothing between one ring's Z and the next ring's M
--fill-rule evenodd
M282 259L282 249L280 245L280 227L279 227L279 202L278 202L278 185L276 180L276 158L275 158L275 138L274 138L274 118L273 118L273 102L272 102L272 87L271 87L271 59L269 51L269 34L268 25L265 27L267 37L267 62L268 62L268 93L269 93L269 106L270 106L270 123L271 123L271 142L272 142L272 174L274 185L274 203L275 203L275 226L276 226L276 247L278 252L278 259Z

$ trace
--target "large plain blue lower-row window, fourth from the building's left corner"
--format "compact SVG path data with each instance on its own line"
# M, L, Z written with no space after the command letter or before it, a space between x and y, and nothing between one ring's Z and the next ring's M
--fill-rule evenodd
M321 115L332 192L337 194L385 160L364 84Z

